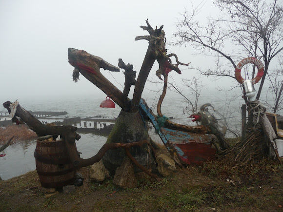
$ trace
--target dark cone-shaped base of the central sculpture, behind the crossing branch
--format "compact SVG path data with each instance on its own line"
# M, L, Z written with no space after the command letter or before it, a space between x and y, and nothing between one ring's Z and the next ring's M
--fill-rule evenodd
M108 136L107 143L132 143L139 140L149 140L146 123L140 112L128 113L121 111L116 123ZM142 147L136 146L131 148L130 153L144 167L150 168L153 165L154 157L150 151L149 144L143 144ZM103 156L104 166L111 172L115 173L125 156L121 149L109 150ZM140 170L135 167L135 172Z

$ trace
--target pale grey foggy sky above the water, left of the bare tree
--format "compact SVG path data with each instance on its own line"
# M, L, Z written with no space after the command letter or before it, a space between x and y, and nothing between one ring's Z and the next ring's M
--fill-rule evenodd
M146 19L152 27L163 24L167 42L174 40L177 18L181 18L180 13L185 8L191 7L188 0L176 2L0 0L0 99L14 101L39 95L106 96L82 75L79 82L73 82L68 48L87 51L115 66L122 58L126 64L133 64L139 73L148 47L146 40L134 40L136 36L147 35L140 26L146 25ZM207 0L202 8L203 21L211 13L212 2ZM205 56L194 56L196 52L190 45L166 47L184 63L191 62L190 65L203 68L213 65ZM156 62L149 78L158 79L157 69ZM101 69L101 73L122 90L124 75L121 71L112 72L112 77ZM178 81L191 78L194 73L184 70L182 75L173 71L170 74ZM203 80L204 84L211 81L206 77ZM145 86L151 85L147 82ZM215 82L210 86L215 87Z

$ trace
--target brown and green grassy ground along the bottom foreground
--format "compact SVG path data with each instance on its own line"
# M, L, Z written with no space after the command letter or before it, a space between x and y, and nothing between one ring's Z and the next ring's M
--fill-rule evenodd
M116 188L112 179L91 182L79 171L76 192L44 197L36 171L0 181L2 211L280 211L283 165L264 159L249 168L228 169L213 161L187 166L160 182L140 180L137 188Z

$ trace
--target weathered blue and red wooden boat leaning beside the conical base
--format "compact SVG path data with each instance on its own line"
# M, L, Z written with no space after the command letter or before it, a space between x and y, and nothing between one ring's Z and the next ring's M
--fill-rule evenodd
M164 76L163 93L157 105L157 112L159 117L163 117L161 113L162 100L166 94L167 76ZM205 161L212 160L215 156L216 150L212 148L211 135L204 135L205 132L199 131L201 128L197 128L196 132L186 132L175 129L169 129L164 126L160 126L158 122L158 116L154 115L144 100L140 102L140 112L143 116L146 116L148 120L153 124L156 132L160 136L162 142L167 147L169 152L179 159L182 164L202 164ZM172 122L171 122L172 123ZM172 123L172 126L176 123ZM186 129L191 127L194 131L194 126L183 125ZM209 128L209 126L207 127ZM179 125L180 129L180 125ZM199 133L197 133L198 131Z

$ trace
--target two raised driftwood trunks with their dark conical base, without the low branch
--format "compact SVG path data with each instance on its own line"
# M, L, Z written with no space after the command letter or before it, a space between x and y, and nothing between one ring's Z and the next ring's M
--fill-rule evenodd
M119 89L117 89L100 73L100 68L108 69L110 71L119 71L118 68L97 56L88 54L85 51L71 48L68 50L69 63L75 67L75 71L77 70L77 72L80 72L84 77L86 77L105 94L107 94L107 96L110 96L122 108L122 111L108 137L107 143L132 143L140 140L149 140L146 125L143 122L142 116L139 112L139 105L144 84L156 59L160 63L160 68L158 70L159 75L164 75L167 67L181 74L180 69L173 65L171 63L171 59L169 58L171 56L177 56L166 55L164 37L165 33L162 30L163 26L161 26L159 29L153 29L147 20L146 23L147 26L141 26L141 28L146 30L149 33L149 36L138 36L135 39L145 39L149 41L148 49L144 57L137 81L134 80L135 73L133 72L132 65L128 64L126 66L121 59L119 60L119 67L125 69L126 74L130 75L127 76L125 74L126 81L124 94L122 94ZM127 99L131 85L135 85L132 100ZM143 166L148 166L154 160L153 154L147 145L143 145L142 148L133 147L130 150L130 153ZM103 163L106 168L109 169L109 171L114 173L116 168L121 165L124 155L125 153L123 150L110 150L103 157Z

